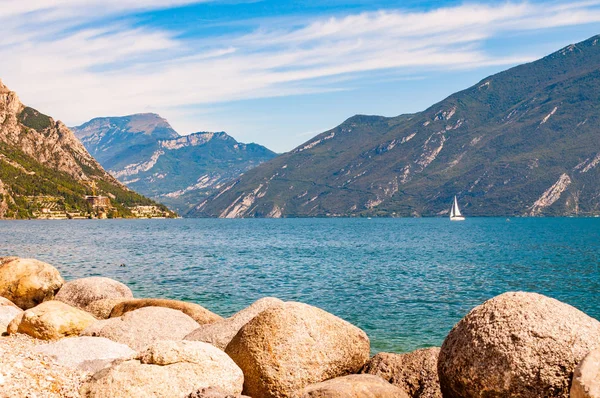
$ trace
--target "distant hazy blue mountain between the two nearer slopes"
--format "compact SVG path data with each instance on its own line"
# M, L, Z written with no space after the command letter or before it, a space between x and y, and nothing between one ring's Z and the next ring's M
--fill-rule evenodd
M182 214L276 156L223 132L180 136L155 114L97 118L73 131L113 176Z

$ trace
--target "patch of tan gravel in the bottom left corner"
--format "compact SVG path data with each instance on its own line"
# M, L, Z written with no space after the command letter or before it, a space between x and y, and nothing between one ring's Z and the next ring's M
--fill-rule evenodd
M88 377L34 352L48 342L24 334L0 337L0 398L79 397Z

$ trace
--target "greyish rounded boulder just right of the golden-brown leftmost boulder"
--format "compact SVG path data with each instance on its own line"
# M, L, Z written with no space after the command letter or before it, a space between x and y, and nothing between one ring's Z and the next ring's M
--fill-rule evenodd
M90 278L75 279L65 283L55 300L85 309L94 301L102 299L132 299L133 293L121 282L110 278L93 276Z

